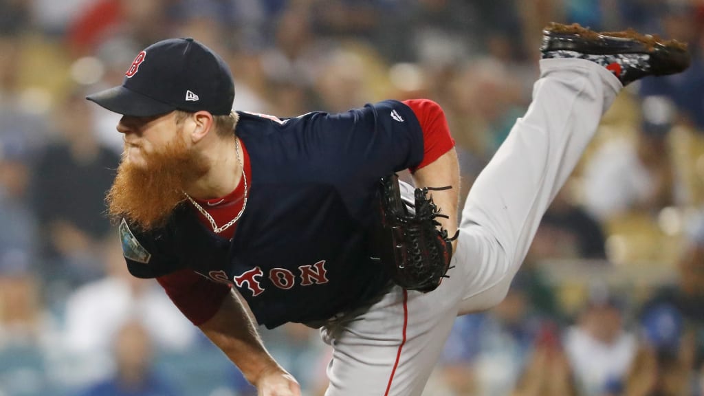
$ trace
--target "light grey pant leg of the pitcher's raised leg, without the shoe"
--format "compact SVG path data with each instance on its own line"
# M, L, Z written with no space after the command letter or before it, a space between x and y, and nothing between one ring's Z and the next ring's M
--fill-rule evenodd
M465 202L455 265L466 280L459 313L501 302L553 198L622 88L583 59L543 59L533 101Z

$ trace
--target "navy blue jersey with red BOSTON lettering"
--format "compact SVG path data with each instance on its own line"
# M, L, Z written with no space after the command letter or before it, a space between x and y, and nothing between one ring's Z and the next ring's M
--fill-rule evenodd
M278 120L239 113L251 187L232 240L181 206L168 225L120 231L132 275L191 268L237 287L258 323L318 321L376 295L388 276L370 260L379 178L417 166L423 136L413 111L382 101L347 113Z

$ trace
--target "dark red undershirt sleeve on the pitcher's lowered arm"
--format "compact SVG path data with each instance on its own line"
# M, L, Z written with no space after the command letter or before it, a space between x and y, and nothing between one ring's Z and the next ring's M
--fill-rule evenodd
M203 278L191 269L156 278L178 309L194 325L200 326L215 316L230 286Z

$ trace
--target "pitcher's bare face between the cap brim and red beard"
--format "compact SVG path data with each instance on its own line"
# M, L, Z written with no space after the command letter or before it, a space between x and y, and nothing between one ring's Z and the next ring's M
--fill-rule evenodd
M161 151L170 142L180 138L182 125L176 123L175 112L152 117L122 116L118 132L125 134L125 153L122 161L144 168L149 154Z

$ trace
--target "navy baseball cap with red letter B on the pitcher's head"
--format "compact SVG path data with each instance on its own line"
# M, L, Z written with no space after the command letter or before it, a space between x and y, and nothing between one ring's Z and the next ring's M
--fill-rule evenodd
M225 61L191 38L166 39L137 54L122 85L89 95L125 116L158 116L174 110L232 111L234 81Z

